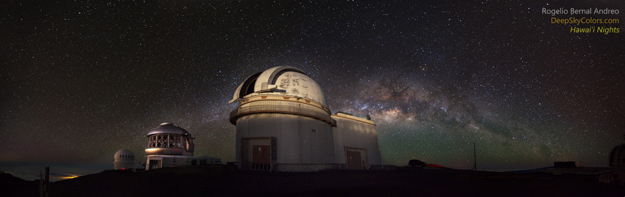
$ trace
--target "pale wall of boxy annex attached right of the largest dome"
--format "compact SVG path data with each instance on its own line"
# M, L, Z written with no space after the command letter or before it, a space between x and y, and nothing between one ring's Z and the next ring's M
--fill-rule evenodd
M346 163L346 153L349 149L353 149L351 151L365 149L366 155L363 155L363 158L369 166L382 164L380 149L378 148L378 134L373 122L347 114L335 114L332 115L332 118L336 120L333 136L335 160L338 164Z

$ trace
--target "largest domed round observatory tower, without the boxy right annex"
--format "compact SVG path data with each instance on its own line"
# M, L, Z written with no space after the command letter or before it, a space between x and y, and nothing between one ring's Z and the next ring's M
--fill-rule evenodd
M333 166L336 121L321 87L303 71L273 67L253 74L239 85L230 103L237 101L230 122L237 126L242 169L308 171Z

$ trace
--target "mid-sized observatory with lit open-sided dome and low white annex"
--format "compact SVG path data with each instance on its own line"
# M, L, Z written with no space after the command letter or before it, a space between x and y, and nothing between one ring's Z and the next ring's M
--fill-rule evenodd
M195 145L187 130L173 123L161 123L149 130L148 148L145 149L147 162L145 169L160 169L167 166L197 166L221 164L219 158L193 156Z

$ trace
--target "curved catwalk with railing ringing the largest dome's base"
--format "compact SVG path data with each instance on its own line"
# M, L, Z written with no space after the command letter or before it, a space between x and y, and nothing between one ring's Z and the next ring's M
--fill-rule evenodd
M330 114L324 112L317 112L315 110L309 110L305 108L298 108L293 106L276 106L276 105L255 105L249 107L237 108L230 112L230 122L235 124L237 119L247 114L260 114L260 113L277 113L277 114L296 114L304 117L311 117L329 123L331 126L336 126L336 121L330 117Z

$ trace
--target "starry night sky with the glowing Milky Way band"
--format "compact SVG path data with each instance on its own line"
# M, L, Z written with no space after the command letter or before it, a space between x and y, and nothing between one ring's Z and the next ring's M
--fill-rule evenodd
M608 166L625 142L623 32L570 33L541 12L625 12L619 1L0 5L0 170L22 177L113 169L120 149L145 162L163 122L196 137L195 155L234 161L227 102L282 65L315 79L333 113L370 114L383 164L471 168L475 143L480 169Z

